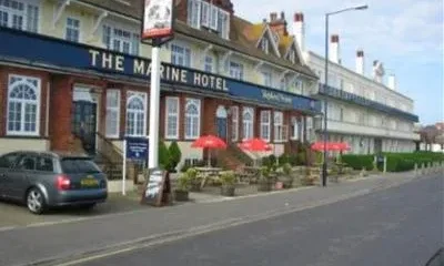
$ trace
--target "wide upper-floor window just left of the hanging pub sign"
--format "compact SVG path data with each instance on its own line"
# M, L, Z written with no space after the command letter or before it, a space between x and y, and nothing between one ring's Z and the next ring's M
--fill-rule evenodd
M138 33L104 24L102 41L110 50L139 54L140 35Z

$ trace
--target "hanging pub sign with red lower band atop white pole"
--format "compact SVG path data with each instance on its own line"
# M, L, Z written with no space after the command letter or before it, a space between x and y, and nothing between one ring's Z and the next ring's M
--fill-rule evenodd
M144 0L142 41L173 34L173 0Z

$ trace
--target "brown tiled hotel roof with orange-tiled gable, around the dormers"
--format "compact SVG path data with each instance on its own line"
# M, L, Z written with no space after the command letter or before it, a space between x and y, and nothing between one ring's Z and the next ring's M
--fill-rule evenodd
M131 0L131 1L127 0L130 3L130 6L122 3L121 0L79 0L79 1L120 13L125 17L137 19L139 21L141 21L143 17L143 10L142 10L143 0ZM181 0L179 0L178 2L180 1ZM175 20L174 23L174 31L179 35L182 34L185 37L199 39L201 41L210 42L212 44L256 58L258 60L270 62L281 68L293 70L295 72L305 74L312 79L317 80L317 75L307 65L293 64L287 60L279 58L272 53L266 54L262 50L258 49L255 44L259 38L261 37L263 30L264 30L263 24L253 24L242 18L232 16L230 40L224 40L219 35L216 35L215 33L191 28L183 21ZM252 33L251 37L250 33ZM254 40L254 38L258 39Z

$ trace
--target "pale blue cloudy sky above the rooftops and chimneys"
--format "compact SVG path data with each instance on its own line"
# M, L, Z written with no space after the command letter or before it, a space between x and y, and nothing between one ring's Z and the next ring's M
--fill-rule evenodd
M364 11L331 17L330 33L340 34L341 58L354 70L355 51L365 53L365 72L373 60L396 75L398 91L414 99L421 123L443 120L442 0L232 0L236 16L261 22L270 12L285 12L290 32L294 12L305 19L305 47L324 54L324 13L369 4ZM253 4L254 2L254 4Z

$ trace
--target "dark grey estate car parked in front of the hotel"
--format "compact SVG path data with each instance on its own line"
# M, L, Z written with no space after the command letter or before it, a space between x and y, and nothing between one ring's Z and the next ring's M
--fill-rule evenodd
M33 214L56 206L92 208L108 197L108 181L84 155L19 151L0 156L0 198L24 203Z

